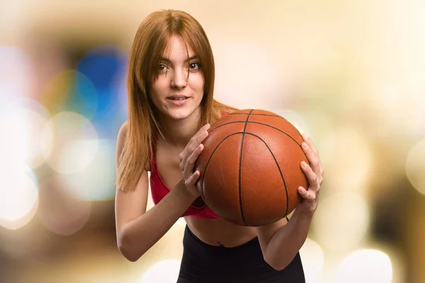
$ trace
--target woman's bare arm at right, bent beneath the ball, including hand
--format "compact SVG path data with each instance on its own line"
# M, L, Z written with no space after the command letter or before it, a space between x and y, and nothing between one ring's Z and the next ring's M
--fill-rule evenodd
M309 187L299 187L302 202L290 218L281 219L273 224L257 227L257 233L264 260L276 270L283 270L293 260L307 238L314 212L319 202L319 191L323 181L323 168L319 153L312 140L302 135L305 152L310 166L301 163L301 169L307 177Z

